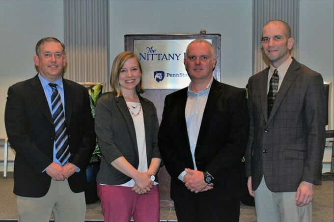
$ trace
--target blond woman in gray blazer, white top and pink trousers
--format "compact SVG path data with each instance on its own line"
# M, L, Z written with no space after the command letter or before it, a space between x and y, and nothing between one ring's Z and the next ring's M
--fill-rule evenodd
M111 68L111 92L97 103L95 132L102 152L97 174L105 222L159 221L156 173L158 117L143 92L137 55L123 52Z

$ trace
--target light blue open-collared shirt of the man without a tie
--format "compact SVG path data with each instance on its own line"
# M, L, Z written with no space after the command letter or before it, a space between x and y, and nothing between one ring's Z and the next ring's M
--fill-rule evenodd
M197 167L195 162L195 148L196 148L200 124L202 122L203 112L205 109L206 101L208 100L212 82L213 78L211 79L210 83L206 86L204 90L198 91L197 93L192 90L191 83L188 86L188 98L186 103L185 116L186 116L190 151L192 153L194 168L196 170ZM184 182L183 177L185 174L186 171L180 173L178 179Z

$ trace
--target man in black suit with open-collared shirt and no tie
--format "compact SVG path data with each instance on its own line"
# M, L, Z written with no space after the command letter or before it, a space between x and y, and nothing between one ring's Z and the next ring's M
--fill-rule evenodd
M216 81L216 61L208 41L191 42L184 59L191 83L165 99L158 142L179 222L239 222L246 91Z

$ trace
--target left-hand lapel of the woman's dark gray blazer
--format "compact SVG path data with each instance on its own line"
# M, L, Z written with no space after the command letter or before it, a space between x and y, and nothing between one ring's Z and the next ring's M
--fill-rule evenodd
M136 130L135 130L134 122L132 120L131 113L128 110L128 107L125 103L125 100L124 100L123 96L120 96L120 97L115 96L115 101L116 101L118 110L122 113L122 115L124 117L124 120L125 120L125 122L128 126L128 130L129 130L129 133L130 133L130 136L131 136L131 140L132 140L133 146L135 147L135 152L138 156L139 154L138 154L138 144L137 144Z

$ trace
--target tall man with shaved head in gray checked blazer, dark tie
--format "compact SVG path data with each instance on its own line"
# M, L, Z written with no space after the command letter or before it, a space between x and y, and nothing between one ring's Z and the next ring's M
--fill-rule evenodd
M262 49L270 66L248 83L246 174L258 222L311 221L314 184L321 184L323 79L290 56L293 43L288 24L269 21L263 27Z

